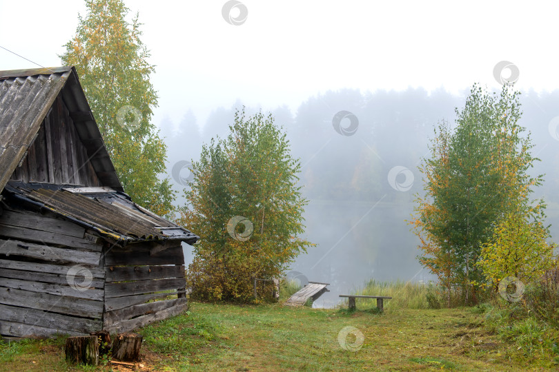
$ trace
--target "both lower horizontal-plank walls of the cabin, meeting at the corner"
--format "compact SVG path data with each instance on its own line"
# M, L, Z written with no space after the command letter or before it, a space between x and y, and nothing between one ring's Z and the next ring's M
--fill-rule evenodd
M178 240L110 247L54 214L0 210L0 335L124 332L188 309Z

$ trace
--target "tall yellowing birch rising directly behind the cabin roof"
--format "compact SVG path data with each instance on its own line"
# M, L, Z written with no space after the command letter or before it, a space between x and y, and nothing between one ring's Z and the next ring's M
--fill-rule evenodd
M169 214L175 193L167 178L158 177L167 149L151 122L155 66L140 39L138 14L128 22L122 0L86 0L86 6L62 63L78 72L124 191L155 213Z

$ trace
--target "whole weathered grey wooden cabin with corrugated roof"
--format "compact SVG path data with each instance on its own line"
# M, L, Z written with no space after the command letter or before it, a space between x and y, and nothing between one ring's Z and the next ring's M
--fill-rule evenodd
M75 68L0 71L0 335L121 332L188 307L198 236L124 193Z

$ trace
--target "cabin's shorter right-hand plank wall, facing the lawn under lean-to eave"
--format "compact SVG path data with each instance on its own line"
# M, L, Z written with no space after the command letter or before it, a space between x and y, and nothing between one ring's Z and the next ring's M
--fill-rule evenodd
M177 240L164 248L144 242L106 252L104 329L129 331L188 309L182 247Z

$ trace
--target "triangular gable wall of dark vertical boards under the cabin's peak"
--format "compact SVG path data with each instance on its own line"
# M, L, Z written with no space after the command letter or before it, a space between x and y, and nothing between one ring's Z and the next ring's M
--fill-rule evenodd
M12 180L101 186L61 96L55 100Z

